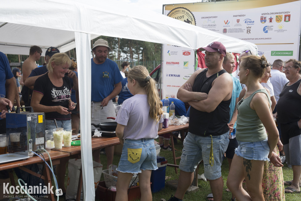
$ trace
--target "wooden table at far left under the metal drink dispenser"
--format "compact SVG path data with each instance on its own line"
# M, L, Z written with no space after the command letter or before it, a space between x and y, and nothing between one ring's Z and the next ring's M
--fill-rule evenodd
M57 164L60 164L60 159L61 158L69 157L70 153L51 151L49 155L51 157L52 165L57 165ZM44 154L44 158L45 158L45 161L49 161L49 157L48 157L47 153ZM19 168L23 171L28 172L29 174L32 174L36 177L40 177L41 176L40 174L37 174L36 172L33 172L33 171L31 171L31 170L24 167L26 165L32 165L32 164L37 164L37 163L43 164L44 161L39 156L34 155L33 157L27 158L25 160L2 163L2 164L0 164L0 170L8 170L8 169L12 169L12 168ZM52 174L51 171L49 171L48 168L45 168L44 174L41 176L41 178L45 181L45 184L49 183L50 186L52 186L50 174ZM10 180L11 180L11 185L16 186L12 171L9 173L9 177L10 177ZM16 194L14 196L17 197ZM50 195L48 195L48 197L51 200L54 200L54 194L50 194Z

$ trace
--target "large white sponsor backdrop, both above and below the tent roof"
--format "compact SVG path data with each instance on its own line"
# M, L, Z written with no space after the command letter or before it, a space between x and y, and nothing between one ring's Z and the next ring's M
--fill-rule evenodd
M300 11L299 0L239 0L170 4L165 5L164 14L225 36L252 42L258 47L258 55L264 54L268 61L273 63L276 59L286 61L290 58L299 58ZM202 38L198 40L202 41ZM216 38L215 40L222 42ZM234 52L227 46L226 49ZM162 95L164 97L174 96L178 91L177 87L185 83L182 77L194 72L192 68L194 51L185 56L181 54L185 50L187 48L163 45ZM243 50L245 48L241 47L236 53ZM171 51L176 55L170 55ZM176 63L168 63L168 61ZM183 69L184 61L189 62L186 71ZM170 72L179 74L182 80L179 77L169 77ZM235 74L236 72L233 73Z

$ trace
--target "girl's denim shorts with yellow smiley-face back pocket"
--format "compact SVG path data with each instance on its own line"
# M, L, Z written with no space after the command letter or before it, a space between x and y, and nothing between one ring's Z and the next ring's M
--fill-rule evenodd
M141 170L157 169L157 154L153 138L124 140L117 171L141 173Z

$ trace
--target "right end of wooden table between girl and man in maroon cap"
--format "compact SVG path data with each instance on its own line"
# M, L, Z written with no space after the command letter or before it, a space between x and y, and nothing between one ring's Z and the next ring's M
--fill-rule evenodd
M180 140L183 142L184 138L185 138L185 132L188 132L188 127L189 124L185 124L185 125L180 125L180 126L176 126L176 125L169 125L168 128L163 128L162 130L160 130L158 132L158 135L163 135L165 133L170 133L170 135L172 137L175 137L176 139ZM180 131L180 136L181 138L179 138L178 136L175 136L174 134L172 134L172 132L174 131ZM175 173L178 174L178 165L177 165L177 159L180 159L181 157L176 157L175 156L175 145L173 143L173 140L171 140L171 147L172 147L172 157L173 157L173 164L167 163L168 166L170 167L174 167L175 168Z

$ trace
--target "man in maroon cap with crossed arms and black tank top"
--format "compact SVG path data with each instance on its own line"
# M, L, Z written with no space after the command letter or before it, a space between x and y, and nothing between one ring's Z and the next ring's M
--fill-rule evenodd
M183 199L193 181L194 170L202 160L214 200L222 200L224 181L221 165L229 143L227 124L233 84L231 76L222 67L225 46L221 42L212 42L200 50L205 51L208 68L195 71L177 94L178 99L191 105L191 109L189 132L179 165L178 188L175 196L169 199L171 201Z

